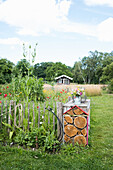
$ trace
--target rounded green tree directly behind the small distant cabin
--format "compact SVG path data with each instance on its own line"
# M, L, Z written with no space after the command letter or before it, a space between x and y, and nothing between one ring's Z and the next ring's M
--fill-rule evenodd
M55 77L63 74L73 77L71 71L65 64L62 64L61 62L53 63L52 66L49 66L46 69L46 80L53 81Z

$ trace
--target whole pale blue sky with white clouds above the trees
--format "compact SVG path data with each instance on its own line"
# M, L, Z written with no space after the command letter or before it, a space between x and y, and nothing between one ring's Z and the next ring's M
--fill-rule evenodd
M0 0L0 59L73 66L90 51L113 51L113 0ZM30 60L31 62L31 60Z

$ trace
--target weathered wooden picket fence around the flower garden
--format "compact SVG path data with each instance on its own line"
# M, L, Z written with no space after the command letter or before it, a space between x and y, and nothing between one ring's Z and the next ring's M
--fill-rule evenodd
M14 128L22 128L25 130L25 122L27 124L27 130L30 130L32 124L33 127L40 127L41 124L45 123L47 126L52 126L53 130L57 131L59 135L59 122L50 111L46 110L46 107L53 109L55 114L59 117L62 122L62 103L46 103L39 104L38 106L34 102L23 103L16 101L2 102L0 105L0 126L3 128L4 124L13 125ZM8 131L10 128L8 128Z

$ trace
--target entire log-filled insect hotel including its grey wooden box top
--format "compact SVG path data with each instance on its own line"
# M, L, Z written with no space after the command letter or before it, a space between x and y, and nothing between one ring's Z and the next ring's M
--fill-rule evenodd
M88 145L90 126L90 100L74 105L72 101L63 105L63 142Z

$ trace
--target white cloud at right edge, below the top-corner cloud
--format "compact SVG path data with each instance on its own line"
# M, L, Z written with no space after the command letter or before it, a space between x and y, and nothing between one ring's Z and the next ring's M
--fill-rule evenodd
M97 26L97 37L100 41L113 42L113 18L108 18Z

